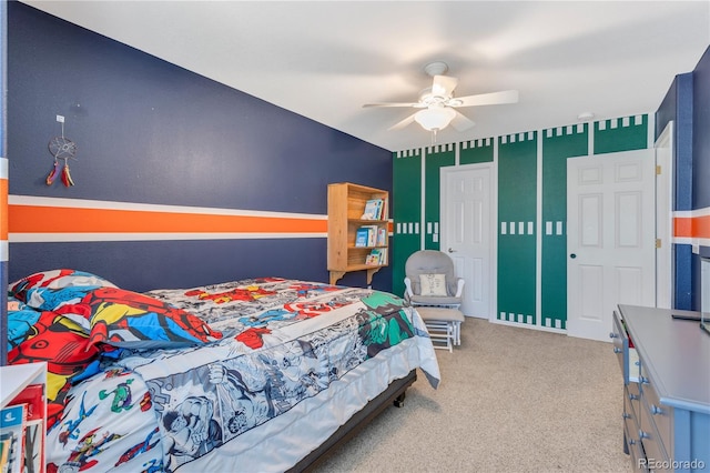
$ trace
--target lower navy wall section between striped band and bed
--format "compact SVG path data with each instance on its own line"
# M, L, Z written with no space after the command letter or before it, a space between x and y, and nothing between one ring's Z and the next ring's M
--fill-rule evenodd
M10 261L21 261L23 272L10 264L10 280L77 260L82 270L134 291L186 289L230 281L234 274L323 280L326 255L324 239L17 243ZM363 285L357 275L351 282Z

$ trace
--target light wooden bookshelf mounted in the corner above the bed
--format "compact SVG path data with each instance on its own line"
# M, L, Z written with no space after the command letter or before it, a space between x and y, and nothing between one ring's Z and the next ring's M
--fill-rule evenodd
M363 219L368 201L381 200L382 210L374 219ZM367 271L367 284L389 260L389 192L366 185L341 182L328 185L328 271L331 284L352 271ZM357 230L371 227L375 232L384 231L372 244L356 246ZM382 235L381 235L382 236ZM382 259L366 264L367 256L376 250Z

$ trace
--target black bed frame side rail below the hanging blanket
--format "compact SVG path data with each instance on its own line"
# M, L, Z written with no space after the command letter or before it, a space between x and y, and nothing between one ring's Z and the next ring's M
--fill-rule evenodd
M416 380L416 370L412 370L405 378L393 381L385 391L383 391L377 397L369 401L362 411L356 412L346 423L341 425L339 429L328 437L328 440L296 463L296 465L290 469L288 472L295 473L312 471L338 446L354 437L382 411L387 409L390 403L397 407L402 407L402 405L404 405L407 388L409 388Z

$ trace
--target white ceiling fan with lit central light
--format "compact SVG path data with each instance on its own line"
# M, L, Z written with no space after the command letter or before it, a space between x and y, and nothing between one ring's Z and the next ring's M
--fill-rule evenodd
M425 130L434 132L434 138L436 138L436 132L449 124L457 131L467 130L476 124L468 117L456 110L459 107L495 105L516 103L518 101L517 90L454 97L458 79L444 76L448 71L448 66L445 62L432 62L424 70L434 79L432 87L422 91L417 102L381 102L367 103L363 107L412 107L422 109L389 127L389 130L399 130L416 121Z

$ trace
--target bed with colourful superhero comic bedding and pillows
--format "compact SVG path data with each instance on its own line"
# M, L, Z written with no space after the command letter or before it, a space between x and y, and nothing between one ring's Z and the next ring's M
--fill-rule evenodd
M9 288L11 363L48 362L48 472L303 471L438 364L393 294L261 278L135 293Z

